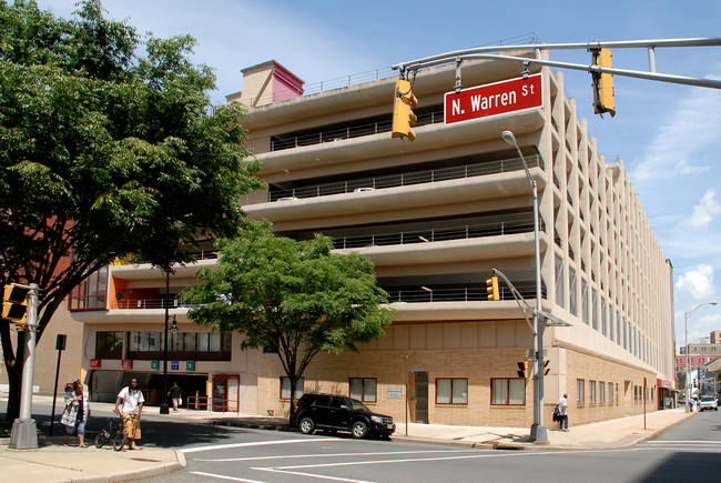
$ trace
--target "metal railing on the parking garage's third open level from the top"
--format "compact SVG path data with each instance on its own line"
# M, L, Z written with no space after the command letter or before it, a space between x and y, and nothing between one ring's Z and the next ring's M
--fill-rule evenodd
M541 225L541 231L546 227ZM447 240L498 237L504 234L534 231L532 220L500 221L496 223L465 224L450 228L400 231L396 233L370 233L353 237L338 237L333 241L334 249L357 249L364 246L403 245Z

